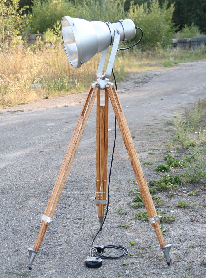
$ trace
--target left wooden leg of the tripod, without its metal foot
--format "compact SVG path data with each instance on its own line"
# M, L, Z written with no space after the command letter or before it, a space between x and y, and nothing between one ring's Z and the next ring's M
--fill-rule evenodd
M71 141L69 143L68 149L66 151L66 155L64 157L64 160L62 162L62 166L60 168L59 174L57 176L57 180L55 182L53 191L51 193L50 199L48 201L46 210L44 212L44 215L48 217L53 217L55 213L55 209L57 207L57 203L59 201L60 195L62 193L62 190L64 188L64 184L66 182L66 178L68 176L68 173L70 171L72 162L74 160L75 153L77 151L77 148L79 146L79 142L81 140L82 134L84 132L84 128L86 126L86 122L88 120L89 114L91 112L94 100L97 95L97 88L92 88L90 86L88 95L86 97L86 100L84 102L84 105L82 107L81 114L79 115L76 127L74 129ZM48 222L41 221L41 228L39 230L39 234L37 236L35 245L33 249L35 251L39 251L39 248L41 246L41 242L44 238L44 234L46 232L46 228L49 225Z

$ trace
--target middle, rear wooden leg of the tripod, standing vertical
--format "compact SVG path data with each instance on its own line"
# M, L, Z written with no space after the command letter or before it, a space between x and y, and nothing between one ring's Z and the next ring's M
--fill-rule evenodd
M97 135L96 135L96 199L106 200L107 149L108 149L108 93L105 105L100 105L100 92L97 93ZM105 203L106 204L106 203ZM98 204L98 217L104 217L105 204ZM100 226L103 218L99 218Z

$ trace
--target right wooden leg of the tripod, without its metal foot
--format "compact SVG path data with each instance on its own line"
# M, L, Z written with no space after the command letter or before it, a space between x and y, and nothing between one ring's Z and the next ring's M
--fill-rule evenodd
M137 152L134 147L134 143L133 143L133 140L132 140L132 137L131 137L131 134L129 131L129 127L127 125L127 122L126 122L126 119L125 119L125 116L124 116L124 113L122 110L122 106L120 104L120 100L119 100L117 91L115 90L115 88L112 88L111 85L109 85L109 87L107 87L106 90L108 90L109 98L111 100L111 104L113 106L114 113L117 118L117 122L120 127L120 131L122 133L122 138L124 140L124 144L127 149L127 153L129 155L129 159L131 161L133 171L134 171L135 177L137 179L138 186L139 186L140 192L142 194L142 198L143 198L144 205L146 207L148 216L149 216L149 218L153 218L153 217L157 216L157 212L156 212L155 206L153 204L153 201L152 201L152 198L151 198L151 195L149 192L149 188L147 186L147 182L144 178L142 167L140 165L140 161L138 159ZM162 247L165 247L165 240L163 238L159 224L160 224L160 221L157 221L151 225L155 229L160 247L162 248Z

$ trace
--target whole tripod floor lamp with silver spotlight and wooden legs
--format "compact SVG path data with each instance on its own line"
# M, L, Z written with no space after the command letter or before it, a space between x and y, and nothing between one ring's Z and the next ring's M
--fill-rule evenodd
M115 55L118 50L119 41L131 40L135 37L136 28L131 19L122 19L116 23L109 21L104 23L101 21L87 21L79 18L71 18L65 16L61 23L62 39L64 49L72 67L78 68L82 64L90 60L97 52L102 52L100 63L97 69L97 81L92 83L82 111L79 115L76 127L74 129L71 141L69 143L66 155L62 162L57 180L53 191L48 201L46 210L41 220L41 228L33 248L28 248L29 251L29 269L36 254L39 251L41 242L44 238L47 227L54 221L53 215L57 207L60 195L64 188L66 178L70 171L75 153L81 140L86 122L93 107L95 98L97 98L97 142L96 142L96 196L94 202L98 206L98 217L100 228L104 221L104 206L106 205L107 192L107 147L108 147L108 102L111 101L122 138L133 171L138 182L140 192L149 216L151 226L154 227L160 248L164 252L169 266L169 251L171 244L166 245L160 229L160 217L156 212L153 204L147 182L134 147L133 140L122 110L122 106L113 83L109 82L109 77L112 72ZM104 63L107 56L109 46L112 45L109 62L106 72L103 71ZM105 91L105 104L100 105L100 90ZM95 257L91 257L91 262Z

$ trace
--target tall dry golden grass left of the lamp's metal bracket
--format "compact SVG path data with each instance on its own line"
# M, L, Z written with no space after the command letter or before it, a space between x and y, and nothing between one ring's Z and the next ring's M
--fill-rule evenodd
M73 70L61 45L49 51L28 48L0 54L0 63L1 107L82 91L97 69L93 59Z

